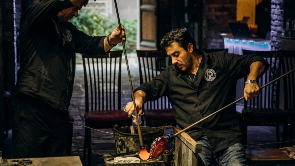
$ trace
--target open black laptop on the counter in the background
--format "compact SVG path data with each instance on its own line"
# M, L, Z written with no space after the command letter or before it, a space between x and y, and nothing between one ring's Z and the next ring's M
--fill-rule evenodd
M253 38L247 23L230 22L228 24L235 38Z

